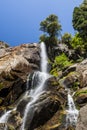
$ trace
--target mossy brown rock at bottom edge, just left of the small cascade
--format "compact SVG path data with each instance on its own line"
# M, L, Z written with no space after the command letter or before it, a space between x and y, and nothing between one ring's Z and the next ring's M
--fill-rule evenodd
M35 130L66 130L66 112L64 110L57 111L50 120Z

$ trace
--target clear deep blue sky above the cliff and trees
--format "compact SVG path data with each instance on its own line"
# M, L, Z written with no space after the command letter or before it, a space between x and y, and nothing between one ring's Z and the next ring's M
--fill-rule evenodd
M0 40L11 46L38 42L40 22L58 16L62 33L74 34L72 12L83 0L0 0Z

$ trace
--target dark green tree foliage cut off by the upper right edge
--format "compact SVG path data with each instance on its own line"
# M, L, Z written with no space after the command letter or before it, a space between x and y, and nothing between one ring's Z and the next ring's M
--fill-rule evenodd
M87 41L87 0L73 11L73 27L77 30L84 41Z

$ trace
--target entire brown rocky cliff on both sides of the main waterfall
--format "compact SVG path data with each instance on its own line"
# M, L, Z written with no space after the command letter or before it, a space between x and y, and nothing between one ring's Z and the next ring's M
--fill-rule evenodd
M3 47L1 44L0 116L5 110L12 111L7 124L0 124L0 130L4 130L6 126L8 130L21 130L24 109L30 98L22 97L26 93L27 80L30 84L28 89L31 89L32 75L40 70L40 51L40 45L36 43L17 47ZM29 113L26 130L86 130L86 79L87 59L68 67L59 77L50 77L44 84L46 91L40 95ZM65 87L71 90L75 104L80 110L76 128L72 126L66 128ZM13 110L15 106L17 109Z

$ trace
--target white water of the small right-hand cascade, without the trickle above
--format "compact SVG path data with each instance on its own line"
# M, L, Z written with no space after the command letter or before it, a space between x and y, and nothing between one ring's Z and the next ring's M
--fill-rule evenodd
M68 91L68 110L66 116L66 126L76 126L78 118L78 110L75 107L74 100Z

